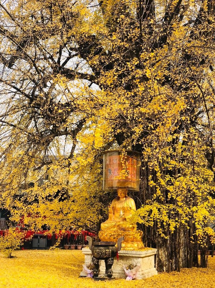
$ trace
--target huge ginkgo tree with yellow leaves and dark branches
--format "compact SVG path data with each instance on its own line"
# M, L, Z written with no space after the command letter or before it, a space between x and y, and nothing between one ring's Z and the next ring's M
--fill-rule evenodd
M214 241L214 0L0 4L1 207L98 231L102 152L142 153L134 222L157 268ZM206 266L206 258L201 265Z

